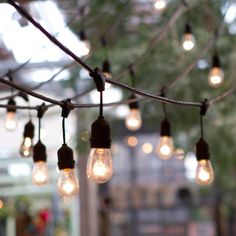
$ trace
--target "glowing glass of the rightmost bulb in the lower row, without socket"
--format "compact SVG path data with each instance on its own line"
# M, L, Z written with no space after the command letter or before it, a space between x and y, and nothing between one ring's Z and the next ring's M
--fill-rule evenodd
M195 180L199 185L212 183L214 180L214 172L209 160L198 161Z

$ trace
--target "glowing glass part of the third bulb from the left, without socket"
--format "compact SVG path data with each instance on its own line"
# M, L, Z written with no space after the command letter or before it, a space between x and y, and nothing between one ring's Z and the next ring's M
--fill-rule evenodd
M35 185L43 185L49 181L49 172L46 162L38 161L34 163L32 171L32 182Z

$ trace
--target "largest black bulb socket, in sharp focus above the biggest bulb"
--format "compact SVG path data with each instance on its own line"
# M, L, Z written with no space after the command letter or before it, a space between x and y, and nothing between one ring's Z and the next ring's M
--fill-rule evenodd
M99 116L92 124L91 148L110 148L110 126L103 116Z

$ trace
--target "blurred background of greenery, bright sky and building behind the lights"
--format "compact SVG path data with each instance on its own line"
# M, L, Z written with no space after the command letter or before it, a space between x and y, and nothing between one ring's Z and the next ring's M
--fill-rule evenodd
M234 86L235 0L17 2L77 56L116 81L153 94L165 87L168 98L196 102ZM0 17L1 77L57 100L99 103L89 74L5 1L0 3ZM192 37L187 49L183 48L186 33ZM212 86L209 73L215 54L224 80L213 81ZM105 61L110 70L105 71ZM1 104L17 92L3 84L0 89ZM107 86L104 103L130 96L124 89ZM19 106L42 104L33 97L27 101L22 94L14 100ZM8 131L7 111L0 109L0 236L236 235L234 100L234 95L227 97L204 117L214 169L214 181L208 186L195 182L198 108L168 104L163 109L155 100L140 101L142 125L130 131L125 125L130 112L126 103L104 107L111 127L114 175L99 185L86 175L91 124L99 109L74 109L66 121L66 141L74 150L80 192L70 200L57 191L61 108L51 107L42 119L41 139L50 173L43 186L32 183L32 158L19 154L30 117L38 132L37 112L16 110L18 125ZM157 143L166 115L174 152L163 160Z

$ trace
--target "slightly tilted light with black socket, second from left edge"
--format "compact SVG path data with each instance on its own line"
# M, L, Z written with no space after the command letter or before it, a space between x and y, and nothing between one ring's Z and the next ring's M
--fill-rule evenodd
M33 154L34 125L31 120L25 125L23 142L20 147L20 155L29 158Z

